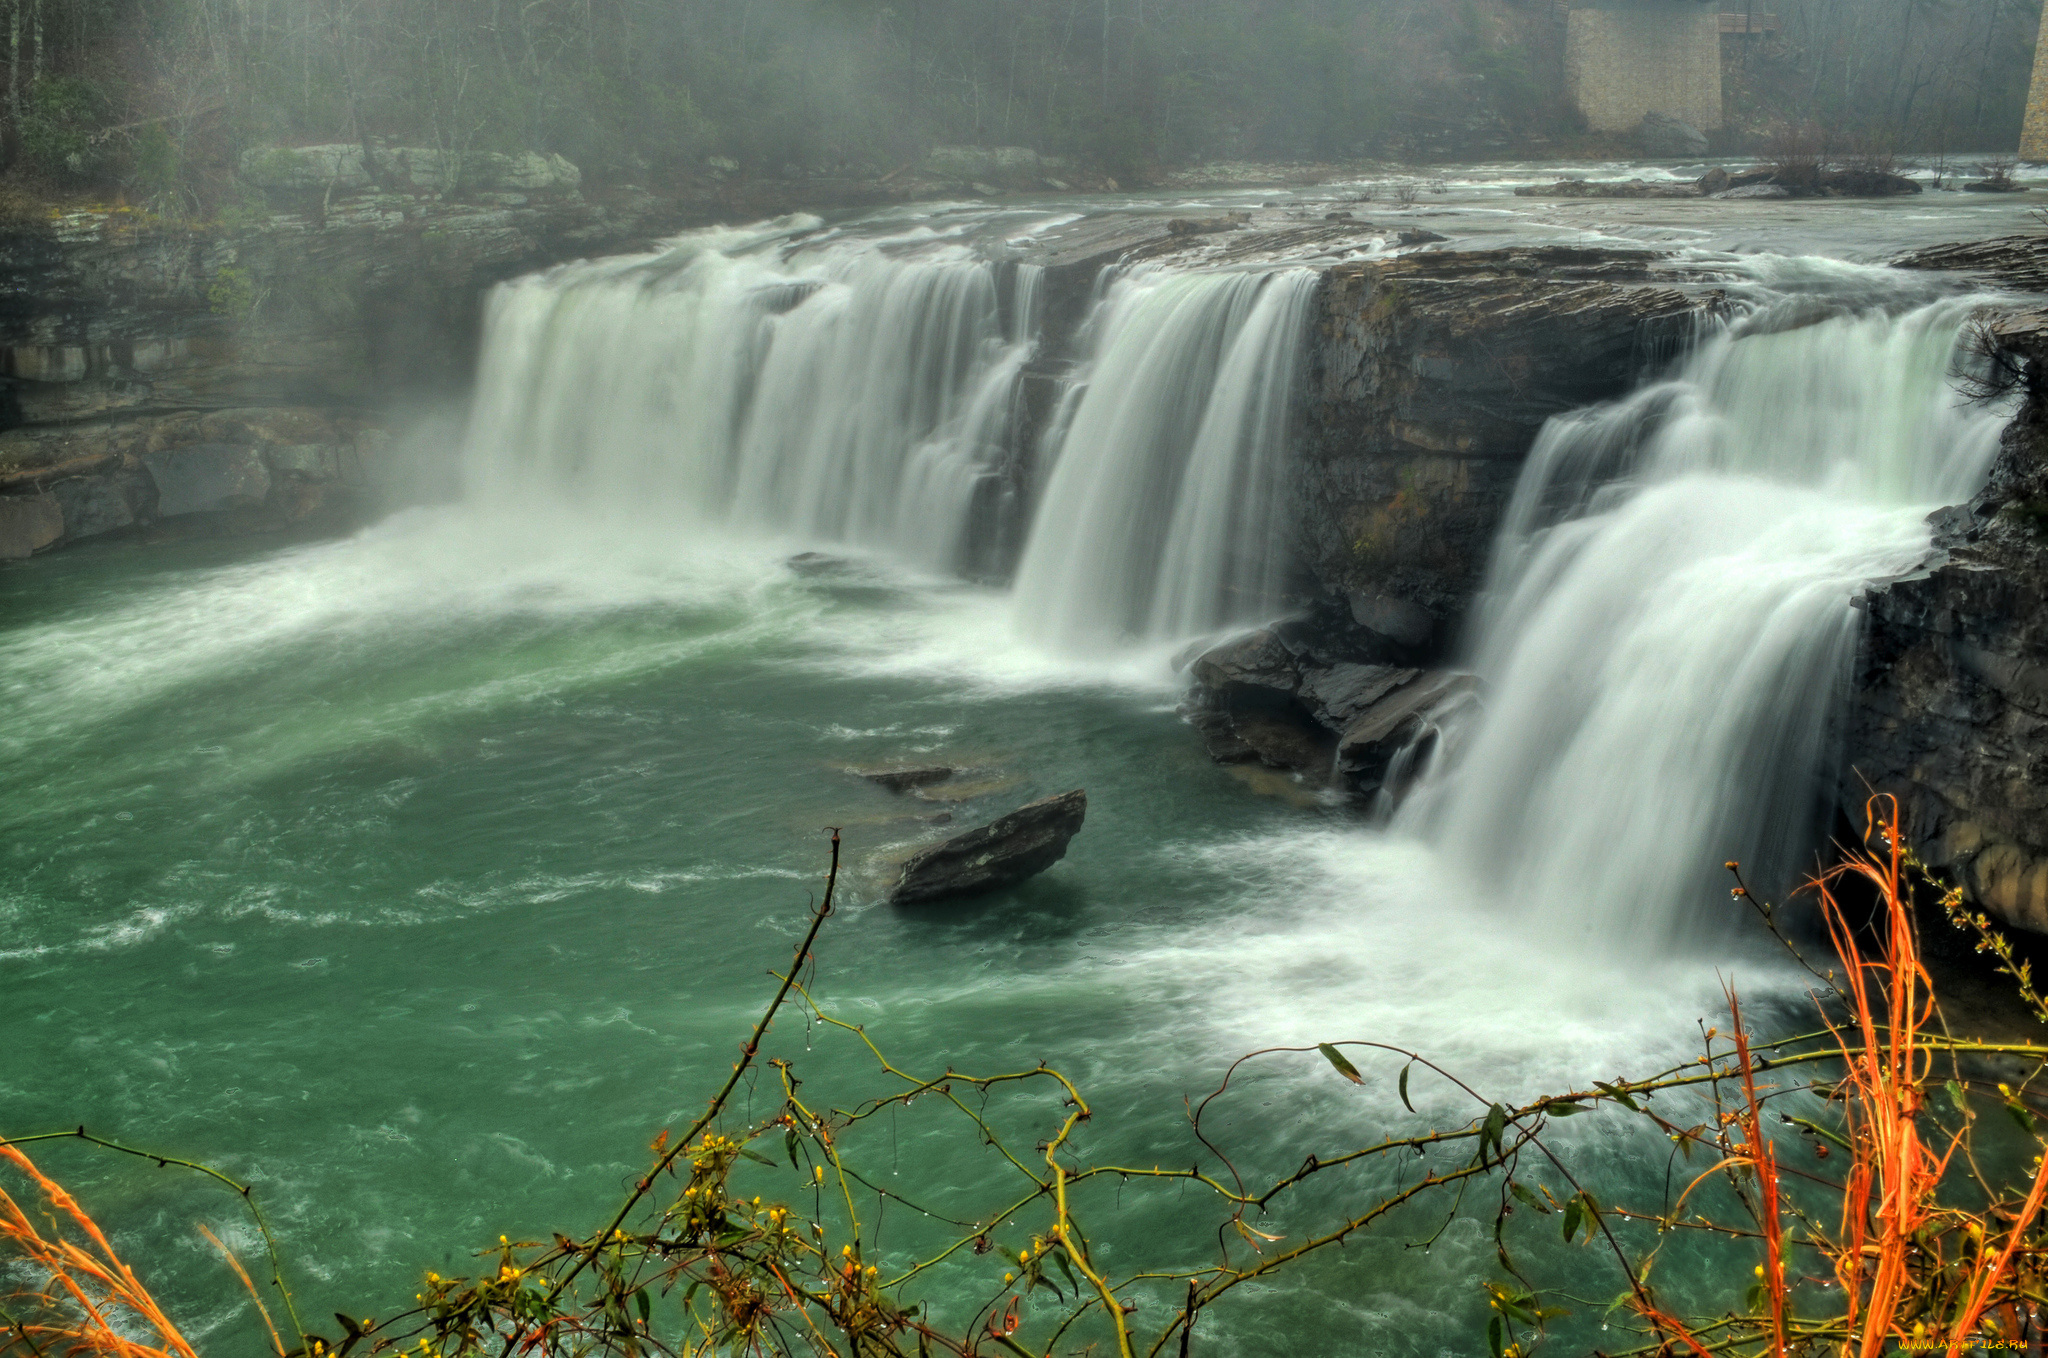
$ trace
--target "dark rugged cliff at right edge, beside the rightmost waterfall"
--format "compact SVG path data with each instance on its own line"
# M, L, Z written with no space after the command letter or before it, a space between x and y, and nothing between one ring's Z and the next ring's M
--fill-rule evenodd
M2048 313L1991 328L2025 404L1923 574L1868 594L1841 801L1898 797L1913 848L2048 932Z

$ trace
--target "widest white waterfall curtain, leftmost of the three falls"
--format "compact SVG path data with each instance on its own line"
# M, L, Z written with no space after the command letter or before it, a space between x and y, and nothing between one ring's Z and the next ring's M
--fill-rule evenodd
M702 231L496 289L469 498L961 567L1042 270L795 236Z

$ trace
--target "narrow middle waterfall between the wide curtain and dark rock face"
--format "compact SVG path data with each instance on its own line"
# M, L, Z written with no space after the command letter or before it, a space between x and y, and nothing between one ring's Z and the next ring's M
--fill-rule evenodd
M1018 567L1026 637L1102 651L1274 612L1315 287L1292 268L1135 272L1110 289Z

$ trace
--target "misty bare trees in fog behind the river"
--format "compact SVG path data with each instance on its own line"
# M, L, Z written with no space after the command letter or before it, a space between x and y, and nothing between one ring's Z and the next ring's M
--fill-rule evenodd
M1722 0L1720 150L2017 143L2040 0ZM250 145L559 152L598 178L1554 154L1554 0L4 0L12 176L211 199ZM1577 141L1575 141L1577 139Z

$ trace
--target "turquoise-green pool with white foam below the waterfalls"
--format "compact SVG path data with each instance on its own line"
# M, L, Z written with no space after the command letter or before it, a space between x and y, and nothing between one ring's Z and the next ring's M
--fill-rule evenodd
M1057 662L1014 639L1001 594L881 563L799 576L788 551L442 508L336 543L0 571L0 1129L84 1122L244 1176L309 1317L389 1313L500 1233L604 1217L729 1067L827 825L850 871L821 1002L909 1069L1065 1069L1096 1104L1096 1159L1202 1157L1184 1094L1264 1045L1405 1043L1513 1096L1683 1059L1716 1012L1726 954L1561 946L1356 811L1217 768L1157 655ZM844 772L891 760L971 768L969 797ZM930 817L1069 787L1087 827L1044 877L950 909L874 901L879 864L942 834ZM1739 971L1780 985L1765 961ZM887 1090L801 1024L772 1047L821 1092ZM1239 1168L1473 1116L1417 1079L1409 1118L1393 1067L1362 1065L1366 1090L1313 1055L1262 1067L1219 1122ZM772 1102L764 1084L754 1106ZM1051 1131L1042 1100L997 1112L1024 1145ZM1567 1131L1581 1163L1661 1180L1628 1124ZM1012 1194L936 1116L870 1124L858 1153L934 1211ZM258 1344L193 1229L246 1249L227 1194L80 1147L39 1157L203 1350ZM1319 1188L1268 1229L1407 1172ZM788 1188L762 1172L760 1192ZM1221 1219L1180 1190L1083 1204L1116 1270L1204 1262ZM1247 1288L1202 1352L1479 1350L1489 1219L1407 1247L1436 1225L1397 1219ZM883 1249L907 1260L928 1229L885 1215ZM1589 1251L1550 1264L1618 1288ZM963 1256L926 1295L944 1311L995 1272Z

